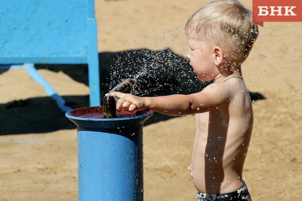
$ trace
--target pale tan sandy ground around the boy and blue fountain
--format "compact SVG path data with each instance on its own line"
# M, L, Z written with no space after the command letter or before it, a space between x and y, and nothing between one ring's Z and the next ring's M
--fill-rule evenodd
M206 2L97 0L99 52L169 47L184 55L186 20ZM265 22L243 65L249 90L266 97L253 103L244 167L254 201L302 199L301 24ZM88 106L86 84L63 71L39 72L73 108ZM193 115L144 127L146 201L196 200L187 172L194 128ZM76 128L24 68L0 71L0 133L0 201L77 200Z

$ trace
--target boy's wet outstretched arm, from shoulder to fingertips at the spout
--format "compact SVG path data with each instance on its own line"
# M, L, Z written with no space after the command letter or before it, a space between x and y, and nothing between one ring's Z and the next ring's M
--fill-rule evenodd
M169 95L157 97L138 97L132 94L111 92L117 96L118 111L152 109L166 115L181 116L207 112L229 100L228 90L223 84L213 83L205 87L201 92L189 95Z

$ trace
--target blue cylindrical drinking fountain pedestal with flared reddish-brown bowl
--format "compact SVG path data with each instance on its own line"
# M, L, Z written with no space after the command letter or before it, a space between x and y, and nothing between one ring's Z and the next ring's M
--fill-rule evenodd
M79 201L143 201L143 124L153 112L96 119L101 114L102 107L66 113L78 128Z

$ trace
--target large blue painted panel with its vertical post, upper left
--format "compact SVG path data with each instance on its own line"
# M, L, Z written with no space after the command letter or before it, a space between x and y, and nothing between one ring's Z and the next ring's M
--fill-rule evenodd
M1 0L0 64L88 64L101 105L94 0Z

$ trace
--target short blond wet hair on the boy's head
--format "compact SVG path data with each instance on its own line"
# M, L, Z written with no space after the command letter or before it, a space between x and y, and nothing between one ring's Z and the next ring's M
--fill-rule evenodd
M186 24L188 29L226 49L227 57L236 63L245 61L258 36L252 12L238 0L210 1L191 15Z

